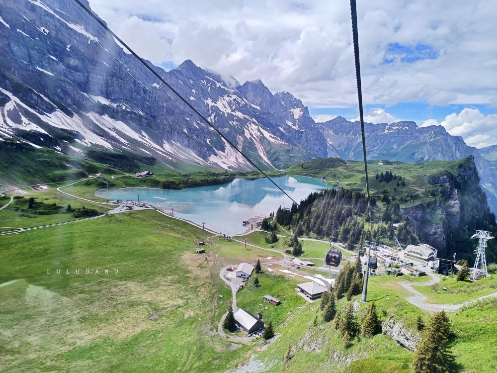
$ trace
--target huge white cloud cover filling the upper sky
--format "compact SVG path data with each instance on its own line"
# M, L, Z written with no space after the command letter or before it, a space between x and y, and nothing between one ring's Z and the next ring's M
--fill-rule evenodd
M357 102L346 1L89 0L143 57L261 79L311 107ZM399 0L358 4L365 104L496 104L493 1ZM425 45L435 57L402 62L389 46Z

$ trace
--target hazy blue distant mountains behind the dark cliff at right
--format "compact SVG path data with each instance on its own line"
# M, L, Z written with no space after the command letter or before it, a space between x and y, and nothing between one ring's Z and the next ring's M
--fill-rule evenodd
M325 135L330 157L362 160L361 129L358 122L336 117L318 123ZM469 155L481 177L481 186L489 198L492 211L497 213L497 146L477 149L466 145L460 136L452 136L442 126L418 127L415 122L365 123L368 159L401 161L452 161ZM438 184L438 183L436 183Z

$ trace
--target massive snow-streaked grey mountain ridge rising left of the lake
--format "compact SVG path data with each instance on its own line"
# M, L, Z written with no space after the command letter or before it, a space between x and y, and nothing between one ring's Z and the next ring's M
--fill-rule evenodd
M19 129L44 133L48 125L79 133L59 151L97 146L153 154L171 165L182 159L251 168L76 3L21 0L1 7L1 137L19 138ZM259 167L281 168L326 153L310 116L289 125L290 113L281 117L281 110L255 107L234 78L227 81L191 60L169 72L154 69Z

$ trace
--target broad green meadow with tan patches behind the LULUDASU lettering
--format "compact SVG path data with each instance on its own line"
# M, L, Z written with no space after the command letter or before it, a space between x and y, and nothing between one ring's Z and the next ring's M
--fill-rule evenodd
M205 232L154 211L1 240L0 282L17 280L0 287L1 329L9 331L0 336L0 360L7 371L216 372L246 357L247 348L232 353L230 343L209 336L230 296L220 266L248 259L239 243L212 243L205 262L193 251ZM266 257L256 249L249 254ZM47 269L118 274L47 275ZM158 320L149 319L160 310Z

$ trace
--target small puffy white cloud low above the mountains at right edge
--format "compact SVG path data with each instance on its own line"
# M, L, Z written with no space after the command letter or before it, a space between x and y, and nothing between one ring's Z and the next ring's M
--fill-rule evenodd
M477 148L495 145L497 139L497 114L484 115L478 109L464 108L459 114L452 113L438 122L425 120L421 127L441 125L448 133L462 136L466 144Z

